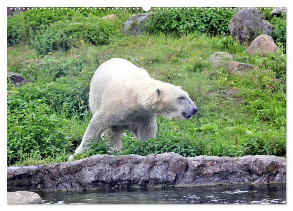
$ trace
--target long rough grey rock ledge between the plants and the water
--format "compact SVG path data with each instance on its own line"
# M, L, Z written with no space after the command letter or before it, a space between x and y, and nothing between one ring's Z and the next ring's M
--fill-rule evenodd
M75 191L113 187L193 187L286 181L286 158L177 153L94 155L74 162L7 167L7 191Z

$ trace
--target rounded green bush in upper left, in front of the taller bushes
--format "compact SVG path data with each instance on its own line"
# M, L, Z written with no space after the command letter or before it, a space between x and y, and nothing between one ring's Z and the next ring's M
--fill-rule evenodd
M34 47L40 54L47 54L54 50L68 50L78 42L105 45L110 42L114 31L110 22L98 18L94 23L58 21L35 38Z

